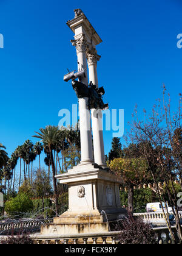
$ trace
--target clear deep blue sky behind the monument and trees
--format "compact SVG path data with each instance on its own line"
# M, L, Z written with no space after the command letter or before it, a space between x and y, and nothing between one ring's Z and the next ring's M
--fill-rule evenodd
M92 3L90 5L90 3ZM61 108L77 98L62 79L76 69L73 32L66 21L80 8L103 43L98 46L99 85L110 108L124 108L124 127L135 104L147 110L165 84L177 104L181 92L182 33L180 0L60 1L0 0L0 142L11 154L34 131L58 125ZM104 132L106 153L112 132ZM122 141L122 140L121 140Z

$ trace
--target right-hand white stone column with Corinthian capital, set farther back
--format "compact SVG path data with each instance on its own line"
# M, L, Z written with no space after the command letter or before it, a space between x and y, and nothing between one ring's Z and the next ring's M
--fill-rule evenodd
M87 52L87 63L89 66L89 81L96 85L98 88L98 76L97 76L97 60L100 56ZM104 154L104 140L103 140L103 125L101 110L91 110L92 113L92 133L93 133L93 150L94 150L94 162L102 167L106 167L106 160Z

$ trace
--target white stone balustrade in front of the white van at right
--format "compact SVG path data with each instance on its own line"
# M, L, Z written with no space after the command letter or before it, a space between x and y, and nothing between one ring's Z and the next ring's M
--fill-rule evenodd
M182 219L182 212L178 212L180 218ZM166 222L164 214L161 212L151 212L151 213L134 213L134 216L141 216L144 221L150 222Z

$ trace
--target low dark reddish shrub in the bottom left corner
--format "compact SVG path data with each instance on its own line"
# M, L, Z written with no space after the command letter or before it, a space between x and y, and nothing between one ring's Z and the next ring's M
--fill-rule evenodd
M29 235L22 234L18 236L7 236L5 240L1 240L1 244L33 244L33 240Z

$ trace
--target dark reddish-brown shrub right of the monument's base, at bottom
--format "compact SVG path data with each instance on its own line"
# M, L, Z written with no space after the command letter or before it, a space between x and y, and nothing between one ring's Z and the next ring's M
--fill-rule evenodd
M153 232L148 223L144 223L141 218L129 216L116 226L120 230L119 235L121 244L156 244L157 235Z

